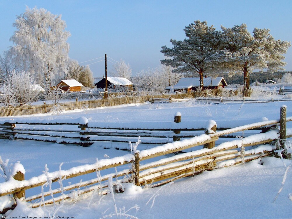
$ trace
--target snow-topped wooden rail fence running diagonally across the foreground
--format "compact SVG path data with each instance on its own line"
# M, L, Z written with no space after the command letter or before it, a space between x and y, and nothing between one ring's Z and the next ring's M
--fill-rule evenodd
M177 117L176 121L179 121L180 115L177 114L175 117ZM157 187L182 177L197 175L205 170L232 166L260 157L270 156L271 154L275 155L274 150L279 150L281 147L284 149L284 139L292 137L292 129L286 130L287 121L292 121L292 117L286 118L286 106L281 107L279 121L264 121L218 132L216 131L215 122L211 121L206 128L206 134L142 151L134 148L132 154L112 159L102 159L95 164L77 166L69 170L59 170L52 173L46 170L44 174L28 180L25 180L24 173L22 173L24 168L21 164L17 163L17 168L14 168L15 170L13 171L14 179L9 178L7 182L0 183L0 197L13 194L13 197L30 202L31 207L35 208L65 199L76 198L88 192L107 194L107 188L113 185L121 192L123 190L122 183L132 182L137 186L148 185L149 187ZM218 140L220 135L259 127L266 128L274 124L280 124L280 131L274 128L269 131L266 130L267 132L265 133L223 142L215 146L214 142ZM276 146L270 144L262 145L272 141L278 141L279 144L276 144ZM177 153L199 145L204 145L204 148L186 153ZM259 146L246 149L254 145ZM161 158L156 161L152 160L148 163L145 162L166 154L168 154L167 158ZM144 161L144 164L140 165L140 161ZM125 168L124 165L128 164L131 164L131 167ZM101 175L101 171L106 172L104 175ZM65 185L65 182L62 183L64 180L92 173L94 173L94 178L91 180L81 180L79 183L66 187L62 186ZM114 183L112 183L111 178L116 178ZM106 182L107 180L108 183ZM54 183L59 185L59 187L51 187ZM45 184L50 185L51 189L49 191L43 191L43 185ZM25 197L25 191L35 187L41 187L43 192L31 197ZM56 194L60 195L56 196ZM15 205L2 209L0 214L13 209Z

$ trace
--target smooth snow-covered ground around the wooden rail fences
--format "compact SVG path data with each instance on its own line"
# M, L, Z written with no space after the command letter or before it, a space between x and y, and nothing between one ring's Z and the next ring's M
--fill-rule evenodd
M190 121L196 126L206 126L207 121L213 119L220 127L236 127L267 119L279 119L280 107L283 104L287 106L287 117L292 116L292 102L207 105L191 101L81 109L59 115L42 114L26 118L70 120L86 117L90 122L107 124L155 121L158 125L161 122L173 121L175 113L180 112L182 121ZM0 118L0 121L7 119L11 118ZM287 123L287 127L291 128L292 124ZM243 136L244 134L241 133ZM62 169L66 170L83 164L93 164L96 159L129 153L115 150L114 143L111 143L112 148L109 149L103 148L104 143L94 143L91 147L30 140L0 140L0 143L1 158L4 161L9 159L9 163L20 161L25 168L26 179L42 174L45 164L49 171L53 172L58 171L61 163ZM148 147L139 146L139 150ZM290 169L286 172L291 161L274 157L263 158L262 161L263 165L260 165L259 160L255 160L240 166L205 171L192 178L183 178L157 188L140 188L127 184L125 192L121 194L108 194L104 197L93 194L55 206L31 209L26 203L20 203L5 216L291 218L292 175ZM4 182L4 179L0 179L0 182Z

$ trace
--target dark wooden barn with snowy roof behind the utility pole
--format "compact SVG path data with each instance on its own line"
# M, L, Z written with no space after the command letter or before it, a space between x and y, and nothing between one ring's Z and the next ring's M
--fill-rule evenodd
M94 84L96 88L105 88L105 78L100 79L100 81ZM107 87L110 89L116 90L128 90L133 91L133 83L126 78L119 78L119 77L107 77Z

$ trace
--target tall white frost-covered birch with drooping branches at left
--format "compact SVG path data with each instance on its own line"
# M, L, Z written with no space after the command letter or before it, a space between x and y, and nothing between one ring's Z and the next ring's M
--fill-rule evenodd
M10 38L15 44L10 53L15 62L21 63L23 70L37 73L34 78L39 81L45 81L47 76L60 79L58 72L65 72L69 59L66 41L71 36L61 15L53 15L44 8L27 7L13 26L17 30Z

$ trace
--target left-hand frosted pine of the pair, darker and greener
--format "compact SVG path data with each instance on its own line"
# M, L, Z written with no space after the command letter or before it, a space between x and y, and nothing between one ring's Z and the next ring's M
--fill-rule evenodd
M161 64L170 65L178 72L199 74L200 86L203 88L203 74L213 73L212 55L218 49L220 32L206 21L196 20L184 29L188 39L178 41L171 39L173 48L162 46L161 52L170 59L161 60Z

